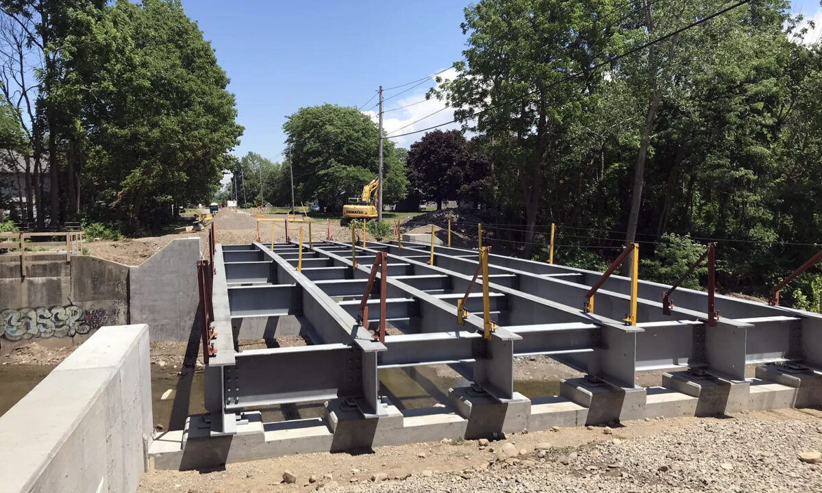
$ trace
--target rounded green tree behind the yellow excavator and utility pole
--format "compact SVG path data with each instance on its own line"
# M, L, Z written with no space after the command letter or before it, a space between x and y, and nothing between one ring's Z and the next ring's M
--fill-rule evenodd
M298 202L319 199L322 205L339 209L376 177L380 136L374 122L356 108L333 104L300 108L283 128L291 146ZM383 166L383 202L391 204L405 196L408 181L394 143L387 139Z

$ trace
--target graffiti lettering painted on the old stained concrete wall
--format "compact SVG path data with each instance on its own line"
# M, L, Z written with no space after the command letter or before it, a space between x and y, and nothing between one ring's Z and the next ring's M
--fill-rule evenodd
M21 308L0 311L0 338L10 341L35 337L73 337L89 334L105 325L105 310L83 310L80 306Z

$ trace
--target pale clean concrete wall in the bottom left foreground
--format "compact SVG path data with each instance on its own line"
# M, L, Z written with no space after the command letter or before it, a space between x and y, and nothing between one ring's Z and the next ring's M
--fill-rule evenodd
M0 493L136 491L152 426L149 329L103 327L0 417Z

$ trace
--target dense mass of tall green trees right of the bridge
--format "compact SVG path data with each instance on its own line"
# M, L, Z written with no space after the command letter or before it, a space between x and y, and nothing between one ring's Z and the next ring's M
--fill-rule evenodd
M466 8L465 61L436 95L478 133L492 167L487 205L497 222L519 225L501 235L528 255L556 223L560 261L612 259L626 239L659 243L643 243L642 256L665 280L718 238L721 286L752 293L767 293L814 253L822 49L803 39L787 2L750 2L646 45L724 7ZM812 285L797 280L807 300Z

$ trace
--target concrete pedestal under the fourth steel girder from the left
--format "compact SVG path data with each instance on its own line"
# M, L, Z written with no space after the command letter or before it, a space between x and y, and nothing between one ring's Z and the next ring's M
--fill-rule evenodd
M588 408L586 425L645 417L646 393L641 387L623 389L601 380L573 378L561 381L560 396Z

